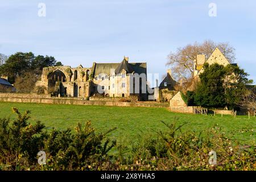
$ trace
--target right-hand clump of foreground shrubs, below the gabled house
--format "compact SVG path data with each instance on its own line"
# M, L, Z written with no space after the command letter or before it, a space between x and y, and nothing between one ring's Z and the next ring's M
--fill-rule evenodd
M164 122L163 122L164 123ZM130 169L138 170L252 170L255 155L253 147L242 150L239 143L226 138L218 125L203 138L195 132L182 133L175 124L169 131L156 131L158 138L146 139L143 145L133 148ZM217 154L217 164L209 164L209 152Z

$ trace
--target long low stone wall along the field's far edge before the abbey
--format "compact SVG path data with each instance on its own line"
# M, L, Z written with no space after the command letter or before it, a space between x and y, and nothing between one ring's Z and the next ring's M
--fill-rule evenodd
M134 107L168 107L169 104L159 102L117 102L117 101L88 101L72 98L22 98L0 97L0 102L28 102L38 104L72 104L72 105L100 105L100 106L134 106Z

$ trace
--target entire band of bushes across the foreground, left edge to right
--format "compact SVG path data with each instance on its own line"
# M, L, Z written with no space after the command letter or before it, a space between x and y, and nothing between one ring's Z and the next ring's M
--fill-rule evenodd
M29 111L18 118L0 119L0 170L255 170L255 146L241 146L215 125L204 134L181 131L175 122L157 137L139 137L131 150L127 143L110 141L107 133L96 133L88 121L70 129L47 133L44 125L28 123ZM203 136L204 135L204 136ZM117 154L110 155L114 149ZM38 152L46 152L46 164L38 164ZM209 152L217 164L209 164Z

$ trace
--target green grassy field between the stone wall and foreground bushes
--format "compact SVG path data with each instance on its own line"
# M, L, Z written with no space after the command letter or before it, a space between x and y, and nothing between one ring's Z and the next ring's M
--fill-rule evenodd
M199 115L171 113L166 108L148 107L114 107L114 106L80 106L80 105L47 105L28 104L14 102L0 102L0 118L15 118L11 107L17 107L22 113L31 111L31 123L42 121L47 130L73 129L78 122L92 121L92 126L97 131L105 132L117 127L109 134L112 139L119 142L136 142L138 134L156 135L153 130L167 130L160 121L167 123L175 122L182 127L182 131L194 130L197 133L206 131L217 123L229 137L240 140L243 144L255 144L255 121L254 117L246 116L233 118L231 115ZM252 130L253 129L253 130Z

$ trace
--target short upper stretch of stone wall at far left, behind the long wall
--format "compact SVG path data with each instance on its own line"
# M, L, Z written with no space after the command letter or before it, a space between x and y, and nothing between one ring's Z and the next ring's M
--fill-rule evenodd
M51 98L51 94L0 93L0 98Z

